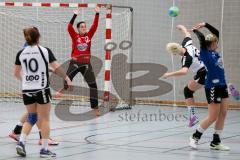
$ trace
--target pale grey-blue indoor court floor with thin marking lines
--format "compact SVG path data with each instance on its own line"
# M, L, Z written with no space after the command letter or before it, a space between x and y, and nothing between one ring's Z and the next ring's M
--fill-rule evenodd
M25 110L23 104L0 105L0 160L41 159L36 127L27 139L26 158L16 155L16 143L8 137ZM60 144L50 150L57 160L240 160L240 110L228 112L222 141L231 151L224 152L209 149L212 127L202 136L198 150L188 147L197 125L187 127L186 108L136 105L78 122L59 120L52 108L51 137ZM197 113L201 119L207 109L199 108Z

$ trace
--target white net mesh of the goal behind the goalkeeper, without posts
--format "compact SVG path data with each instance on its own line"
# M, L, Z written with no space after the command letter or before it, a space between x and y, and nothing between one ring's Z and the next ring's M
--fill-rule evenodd
M57 60L64 64L65 70L68 67L66 63L70 59L71 54L71 39L67 32L67 24L72 18L74 8L44 8L44 7L0 7L0 50L1 64L0 74L0 94L1 100L17 101L20 96L20 82L13 77L13 67L17 52L23 47L24 37L23 28L28 26L38 27L41 33L40 44L49 47L55 54ZM76 9L76 8L75 8ZM94 8L81 8L80 15L76 18L74 27L79 21L86 21L87 28L90 28L93 23L95 11ZM117 45L123 40L130 40L131 17L129 9L114 9L112 13L112 41ZM105 63L105 30L106 30L106 9L102 8L98 29L92 39L92 66L97 79L98 90L104 90L104 63ZM118 48L112 52L112 56L123 53L127 57L130 55L130 49L119 50ZM4 62L4 63L3 63ZM117 62L117 61L116 61ZM113 65L113 64L112 64ZM117 72L125 67L124 64L119 64ZM117 75L117 74L115 74ZM118 79L118 78L114 78ZM60 80L60 79L59 79ZM74 78L74 85L88 88L81 74ZM62 83L53 82L53 83ZM111 86L112 93L118 98L119 95L127 95L129 83L121 83L118 87L118 93L114 86ZM119 90L121 88L122 90ZM124 93L121 93L124 92ZM54 93L54 92L53 92ZM80 103L78 100L85 101L81 93L67 95L68 99L76 100L75 103ZM102 94L99 94L102 98ZM124 98L124 97L123 97ZM88 98L87 98L88 101Z

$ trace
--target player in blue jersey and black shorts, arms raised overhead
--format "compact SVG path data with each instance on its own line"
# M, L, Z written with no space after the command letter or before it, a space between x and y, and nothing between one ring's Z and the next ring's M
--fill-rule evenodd
M198 31L198 29L203 27L206 27L211 34L205 37ZM230 150L229 147L221 143L220 139L228 109L228 90L222 58L216 51L218 48L219 31L210 24L203 22L194 26L193 32L200 41L200 58L208 70L205 80L208 116L201 121L196 132L190 137L189 145L196 149L203 132L215 122L215 131L210 148L215 150Z

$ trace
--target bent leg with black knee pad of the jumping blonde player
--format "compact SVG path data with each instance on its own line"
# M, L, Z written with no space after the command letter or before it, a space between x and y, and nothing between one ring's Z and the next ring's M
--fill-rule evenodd
M189 127L194 126L198 123L198 117L196 116L195 103L194 103L194 92L200 89L203 85L199 84L195 80L190 80L188 85L184 88L185 101L188 107L189 113Z

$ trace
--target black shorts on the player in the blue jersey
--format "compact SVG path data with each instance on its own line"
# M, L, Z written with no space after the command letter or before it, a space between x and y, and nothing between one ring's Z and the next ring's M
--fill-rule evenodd
M205 88L206 98L208 104L210 103L221 103L223 98L228 98L227 86L215 86L210 89Z

